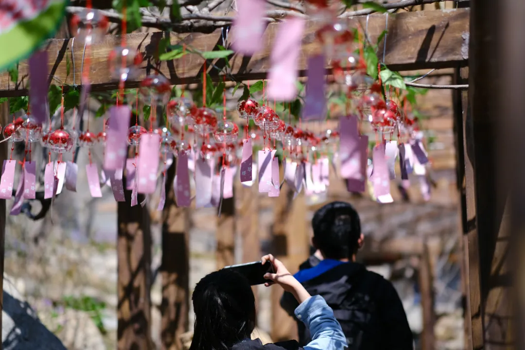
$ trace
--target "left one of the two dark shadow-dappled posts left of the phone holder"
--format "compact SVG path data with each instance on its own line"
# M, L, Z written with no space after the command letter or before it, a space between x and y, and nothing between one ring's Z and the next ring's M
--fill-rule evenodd
M153 347L150 213L147 205L131 206L131 191L124 190L124 195L126 201L117 205L118 349L149 350Z

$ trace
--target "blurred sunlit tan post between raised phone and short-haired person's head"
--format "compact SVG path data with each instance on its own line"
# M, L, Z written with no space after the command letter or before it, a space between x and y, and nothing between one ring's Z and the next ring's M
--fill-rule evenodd
M274 254L290 272L296 272L299 264L308 258L310 248L304 193L293 199L293 191L284 184L274 213ZM279 305L281 296L282 290L272 287L270 336L274 342L297 339L297 324Z

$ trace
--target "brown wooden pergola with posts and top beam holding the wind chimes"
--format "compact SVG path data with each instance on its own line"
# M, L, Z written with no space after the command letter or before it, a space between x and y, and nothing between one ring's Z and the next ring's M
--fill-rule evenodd
M435 1L408 1L423 4ZM96 3L96 2L95 2ZM511 7L511 4L513 7ZM95 4L96 6L96 4ZM408 5L407 5L408 6ZM470 6L470 8L469 8ZM500 0L459 1L455 9L424 10L389 14L388 41L384 52L384 63L392 70L416 69L454 69L454 84L469 84L468 91L460 89L454 92L454 133L457 150L457 184L460 192L462 242L464 260L462 261L463 281L466 291L465 320L467 327L468 348L505 347L509 342L511 327L519 323L510 323L508 299L511 273L509 257L509 234L523 227L521 207L516 205L518 220L509 221L509 208L506 207L509 182L500 173L510 171L511 162L508 150L513 156L523 156L525 149L518 130L525 130L525 119L518 118L523 110L523 98L519 93L525 91L525 68L519 59L525 52L523 40L501 40L505 34L524 33L525 23L516 18L525 13L525 3ZM521 12L520 12L521 11ZM513 20L496 22L490 20L497 15L509 16ZM352 26L358 23L367 28L367 37L375 42L385 30L385 14L372 14L369 17L349 18ZM257 80L266 77L269 69L269 53L274 41L277 23L268 24L265 31L265 49L253 57L232 55L229 58L231 75L227 80ZM307 58L321 50L313 35L313 23L308 23L303 38L299 60L300 74L306 71ZM211 51L223 43L223 29L216 29L208 34L176 34L158 31L155 33L127 34L126 42L131 47L145 53L145 65L141 77L127 82L127 87L137 87L145 77L156 55L159 40L169 37L171 44L187 44L201 51ZM109 79L106 58L113 46L119 45L121 37L107 35L103 44L91 49L91 84L92 89L113 90L117 84ZM501 44L501 45L500 45ZM76 62L82 61L83 46L74 43L71 38L52 39L46 45L50 75L58 81L66 80L66 56ZM74 54L71 52L73 48ZM380 45L379 57L383 57ZM165 61L160 71L172 84L188 84L201 80L204 67L210 67L214 60L204 59L199 55L188 54L175 61ZM512 68L510 68L512 67ZM75 73L81 75L80 65ZM209 70L212 78L222 80L216 70ZM469 74L470 73L470 74ZM19 80L16 84L9 81L7 73L0 75L0 97L24 96L27 94L27 65L20 62ZM514 77L519 76L520 79ZM51 77L50 77L51 79ZM502 80L501 80L502 79ZM501 92L495 90L500 89ZM503 93L507 93L507 101ZM508 103L505 103L508 102ZM505 113L503 113L505 111ZM3 125L7 121L8 109L3 108ZM504 120L506 125L502 126ZM507 136L508 135L508 136ZM506 138L507 137L507 138ZM508 140L512 142L503 142ZM509 147L515 148L509 148ZM6 143L2 147L2 159L6 158ZM507 153L505 153L506 151ZM513 160L511 178L525 176L525 166L521 158ZM507 163L503 162L507 161ZM175 164L175 163L174 163ZM178 335L187 330L189 308L189 250L188 250L188 215L190 209L177 208L171 182L175 175L175 165L168 171L166 182L166 205L162 214L162 266L163 285L162 311L162 346L164 349L179 348ZM523 194L522 184L514 194ZM257 222L250 213L257 211L253 200L253 188L238 187L235 197L241 198L239 210L234 199L225 200L222 216L217 221L217 267L234 262L233 247L236 226L245 232L244 260L256 260L260 254L258 246ZM151 301L149 296L151 280L151 236L149 229L149 211L147 206L130 206L131 193L127 192L126 202L118 203L118 348L151 348ZM510 199L514 199L511 197ZM139 199L140 201L140 199ZM512 201L513 204L519 202ZM5 200L0 201L0 225L2 232L3 254ZM282 196L275 207L276 222L273 228L275 253L285 262L297 265L308 254L308 242L301 247L292 247L292 243L303 239L306 227L304 201L291 202L290 196ZM295 219L298 218L298 219ZM287 229L287 222L297 222L293 230ZM302 226L301 226L302 225ZM299 227L301 226L301 227ZM518 235L516 235L518 237ZM425 249L425 248L423 248ZM3 258L3 256L2 256ZM3 264L3 259L0 259ZM522 265L520 265L522 266ZM3 266L2 266L3 269ZM276 303L279 295L272 296ZM432 306L432 305L430 305ZM277 328L285 321L278 313L272 315L272 323ZM285 336L275 330L274 340ZM518 329L518 328L516 328ZM513 333L513 332L512 332ZM518 334L518 333L515 333ZM516 342L512 338L512 342ZM514 343L513 343L514 344ZM432 345L427 344L427 348Z

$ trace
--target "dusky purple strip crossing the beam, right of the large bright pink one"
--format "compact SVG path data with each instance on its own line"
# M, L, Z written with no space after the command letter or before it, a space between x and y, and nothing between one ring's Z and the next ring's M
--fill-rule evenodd
M308 58L308 81L302 109L303 120L325 120L327 117L327 102L324 88L325 70L323 55L310 56Z

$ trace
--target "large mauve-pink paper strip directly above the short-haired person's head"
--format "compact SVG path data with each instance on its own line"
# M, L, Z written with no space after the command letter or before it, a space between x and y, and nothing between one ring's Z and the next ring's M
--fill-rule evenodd
M356 115L342 116L339 119L339 157L342 178L364 181L361 168L360 142L358 133L358 117Z

